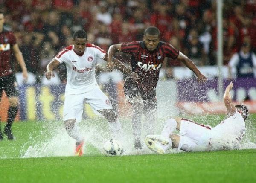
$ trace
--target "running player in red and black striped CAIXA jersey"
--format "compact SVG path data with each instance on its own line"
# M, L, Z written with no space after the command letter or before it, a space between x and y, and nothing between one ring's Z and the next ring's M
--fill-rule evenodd
M178 59L186 67L192 70L199 81L206 81L207 78L198 70L192 60L182 52L179 52L171 44L160 41L160 31L157 27L148 27L144 32L143 41L115 44L108 50L108 66L113 67L113 57L116 52L123 52L132 55L131 68L137 73L138 78L134 80L129 76L125 79L124 91L128 101L133 106L133 131L135 137L135 149L141 149L141 114L154 122L153 112L157 107L156 87L159 79L160 68L164 58ZM153 125L148 126L148 133Z

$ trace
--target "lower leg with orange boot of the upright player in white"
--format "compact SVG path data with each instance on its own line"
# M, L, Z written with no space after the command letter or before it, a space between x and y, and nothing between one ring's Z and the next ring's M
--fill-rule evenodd
M84 138L81 135L78 126L76 125L76 119L68 119L64 121L64 126L67 134L76 140L75 155L81 156L83 154Z

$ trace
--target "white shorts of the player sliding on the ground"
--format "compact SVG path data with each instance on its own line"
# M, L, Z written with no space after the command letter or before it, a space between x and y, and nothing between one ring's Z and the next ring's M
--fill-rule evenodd
M183 151L206 151L209 145L211 127L195 123L189 119L180 122L180 143Z

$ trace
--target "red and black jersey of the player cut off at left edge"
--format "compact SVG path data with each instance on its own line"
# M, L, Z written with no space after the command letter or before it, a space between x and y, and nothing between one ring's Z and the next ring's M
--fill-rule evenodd
M12 74L11 49L16 44L12 31L3 29L0 33L0 77Z

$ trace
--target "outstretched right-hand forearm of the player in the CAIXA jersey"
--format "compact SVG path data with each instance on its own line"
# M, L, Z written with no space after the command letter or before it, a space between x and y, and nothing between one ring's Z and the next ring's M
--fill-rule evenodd
M197 76L199 82L207 81L207 78L198 70L198 68L196 67L194 62L192 60L190 60L182 52L179 52L178 59L180 61L182 61L186 65L186 67L188 67L190 70L192 70L195 73L195 75Z

